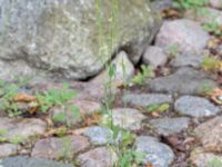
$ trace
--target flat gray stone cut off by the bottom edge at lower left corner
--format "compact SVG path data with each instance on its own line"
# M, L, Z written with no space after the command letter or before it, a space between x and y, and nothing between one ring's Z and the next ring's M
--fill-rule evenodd
M0 160L1 167L73 167L71 164L62 164L59 161L42 159L42 158L29 158L27 156L10 157Z

